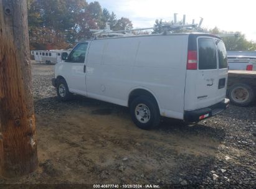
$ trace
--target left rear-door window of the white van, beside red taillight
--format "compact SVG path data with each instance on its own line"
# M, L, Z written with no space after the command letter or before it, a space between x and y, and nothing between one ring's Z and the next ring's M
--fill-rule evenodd
M199 38L199 70L217 69L216 48L214 40Z

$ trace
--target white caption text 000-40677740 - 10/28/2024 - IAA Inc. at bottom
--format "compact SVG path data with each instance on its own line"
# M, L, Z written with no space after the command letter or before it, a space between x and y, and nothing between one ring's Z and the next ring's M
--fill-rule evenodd
M93 188L160 188L159 185L93 185Z

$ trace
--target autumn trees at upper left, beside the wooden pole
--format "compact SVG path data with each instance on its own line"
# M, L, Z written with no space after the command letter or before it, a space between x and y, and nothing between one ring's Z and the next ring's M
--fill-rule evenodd
M69 48L80 40L90 39L90 29L112 30L133 27L130 19L116 19L115 12L99 2L85 0L27 0L31 49Z

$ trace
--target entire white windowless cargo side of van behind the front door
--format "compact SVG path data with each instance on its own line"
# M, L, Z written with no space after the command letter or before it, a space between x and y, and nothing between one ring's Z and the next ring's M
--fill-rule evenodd
M156 35L92 41L93 53L89 52L87 64L88 96L102 96L111 103L118 99L118 104L128 106L130 90L140 86L154 91L159 109L163 109L161 114L171 117L174 113L175 118L182 119L184 101L180 94L185 87L187 38ZM93 63L95 60L100 63Z

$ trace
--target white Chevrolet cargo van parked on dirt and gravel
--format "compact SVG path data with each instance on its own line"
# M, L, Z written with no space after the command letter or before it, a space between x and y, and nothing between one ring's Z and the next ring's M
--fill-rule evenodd
M229 104L227 54L209 34L159 34L95 39L77 44L55 65L60 99L71 93L130 108L141 129L160 117L197 122Z

